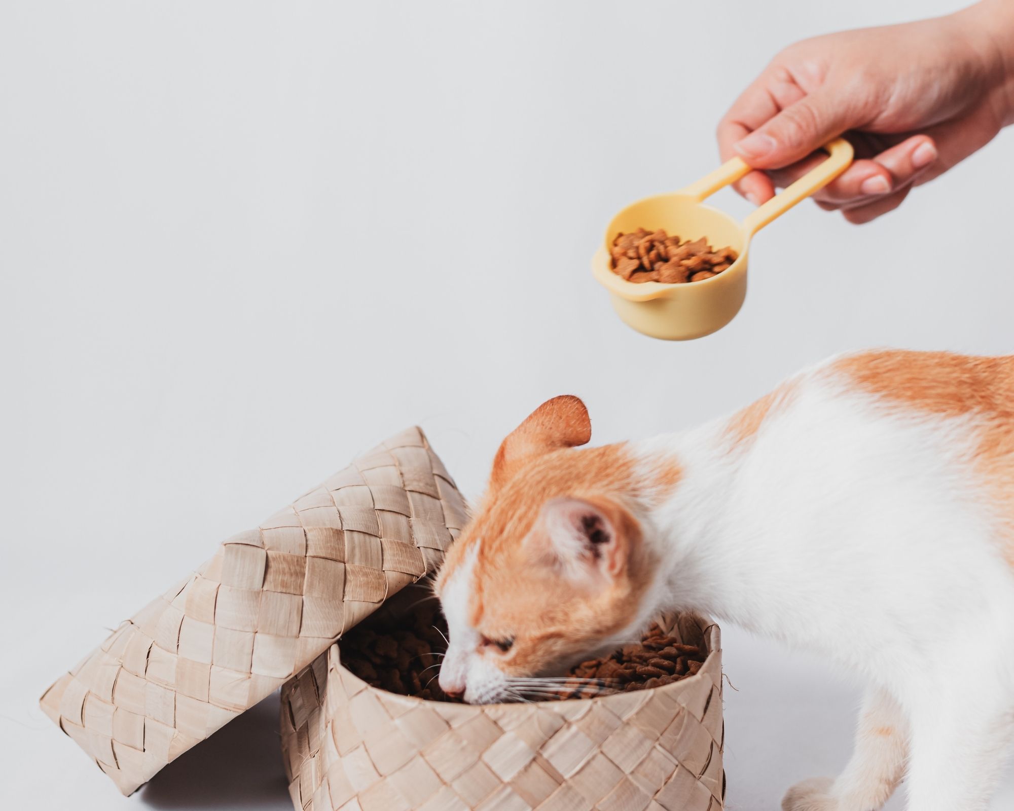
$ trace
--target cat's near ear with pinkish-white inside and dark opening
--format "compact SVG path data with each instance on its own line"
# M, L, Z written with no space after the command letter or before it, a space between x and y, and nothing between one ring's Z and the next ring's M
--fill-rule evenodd
M610 581L627 566L629 525L619 508L583 499L552 499L542 507L544 559L560 574L589 585Z

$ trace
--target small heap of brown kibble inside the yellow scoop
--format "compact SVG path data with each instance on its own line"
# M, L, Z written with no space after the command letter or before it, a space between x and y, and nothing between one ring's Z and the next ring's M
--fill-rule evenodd
M736 261L731 247L712 249L708 238L680 242L664 228L617 234L609 248L612 272L628 282L683 284L718 276Z

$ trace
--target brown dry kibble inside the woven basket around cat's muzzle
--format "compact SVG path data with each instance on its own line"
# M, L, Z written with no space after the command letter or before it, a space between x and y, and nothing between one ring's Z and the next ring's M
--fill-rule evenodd
M435 702L449 697L437 683L441 654L447 647L447 625L435 599L414 606L408 617L387 625L367 623L340 643L342 664L374 687ZM532 701L590 698L625 690L660 687L693 676L707 653L683 645L651 625L638 645L625 645L609 656L589 659L566 678L553 679Z

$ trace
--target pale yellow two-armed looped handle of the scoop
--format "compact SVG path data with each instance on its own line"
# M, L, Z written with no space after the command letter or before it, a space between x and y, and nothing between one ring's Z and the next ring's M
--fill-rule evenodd
M743 230L746 235L755 234L768 223L777 217L781 217L785 212L802 200L805 200L814 192L819 192L827 183L834 180L843 171L849 168L852 163L852 144L844 138L836 138L824 144L822 149L827 152L827 159L806 174L792 183L781 194L775 195L771 200L758 206L743 220ZM680 190L679 194L687 195L696 200L704 200L711 197L719 189L734 183L750 171L750 166L742 158L732 158L719 166L715 171L706 174L700 180L696 180Z

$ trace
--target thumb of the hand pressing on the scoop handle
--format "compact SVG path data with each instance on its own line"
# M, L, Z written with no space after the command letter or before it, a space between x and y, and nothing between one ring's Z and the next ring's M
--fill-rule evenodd
M854 125L841 94L821 89L769 119L733 148L754 168L781 168L802 160Z

